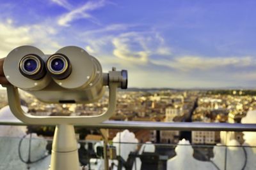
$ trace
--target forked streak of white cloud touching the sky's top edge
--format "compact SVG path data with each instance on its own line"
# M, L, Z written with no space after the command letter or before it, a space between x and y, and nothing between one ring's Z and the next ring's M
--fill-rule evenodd
M96 10L105 5L105 1L88 1L79 8L68 11L58 19L58 24L61 26L69 26L68 23L79 18L90 18L92 22L97 22L95 18L88 13L88 11Z

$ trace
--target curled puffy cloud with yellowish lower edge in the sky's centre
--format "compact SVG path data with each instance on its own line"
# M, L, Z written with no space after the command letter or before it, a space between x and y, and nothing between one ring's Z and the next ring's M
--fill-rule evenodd
M148 62L151 55L170 55L170 48L155 32L125 32L113 38L113 54L133 62Z

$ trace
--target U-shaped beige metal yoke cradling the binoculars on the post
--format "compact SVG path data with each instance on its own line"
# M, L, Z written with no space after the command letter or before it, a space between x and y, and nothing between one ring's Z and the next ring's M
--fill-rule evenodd
M81 116L81 117L67 117L67 116L33 116L25 113L20 107L20 97L17 87L13 85L6 85L8 102L10 109L22 122L26 124L36 124L36 125L56 125L56 124L72 124L72 125L84 125L84 124L98 124L108 120L116 109L116 89L118 83L109 82L109 105L108 110L100 115L94 116Z

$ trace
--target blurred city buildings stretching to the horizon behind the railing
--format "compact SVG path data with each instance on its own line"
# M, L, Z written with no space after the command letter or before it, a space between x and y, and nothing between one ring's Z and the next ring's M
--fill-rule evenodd
M26 92L20 92L21 102L32 115L97 115L107 110L108 93L92 104L45 104ZM6 92L1 91L0 106L6 106ZM130 89L118 92L116 114L111 120L154 122L227 122L241 123L250 110L256 110L254 90L173 90ZM118 130L109 130L113 139ZM208 131L148 131L133 130L141 143L178 143L185 138L193 144L214 145L221 141L221 132ZM227 136L227 134L225 134ZM243 143L243 133L231 137ZM88 138L88 137L87 137Z

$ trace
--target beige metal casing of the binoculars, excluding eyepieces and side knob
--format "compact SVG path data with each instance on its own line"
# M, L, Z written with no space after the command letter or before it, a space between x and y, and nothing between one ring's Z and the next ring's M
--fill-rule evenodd
M70 60L72 72L65 79L56 79L46 73L40 80L26 78L19 71L19 61L34 53L45 62L45 55L34 46L19 46L4 60L4 74L15 87L26 90L44 103L92 103L104 94L102 67L95 57L77 46L65 46L56 53L65 54ZM106 83L105 83L106 84Z

